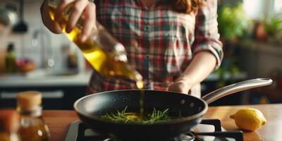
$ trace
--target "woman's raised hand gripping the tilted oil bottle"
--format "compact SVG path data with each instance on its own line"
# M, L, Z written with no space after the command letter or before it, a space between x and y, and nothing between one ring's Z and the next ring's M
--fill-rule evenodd
M55 11L55 19L51 20L49 16L48 0L42 7L42 19L44 25L54 33L61 33L61 27L56 23L62 19L63 12L71 6L71 14L66 24L66 32L71 32L78 19L84 17L81 41L84 42L91 34L93 28L96 28L96 6L88 0L61 0Z

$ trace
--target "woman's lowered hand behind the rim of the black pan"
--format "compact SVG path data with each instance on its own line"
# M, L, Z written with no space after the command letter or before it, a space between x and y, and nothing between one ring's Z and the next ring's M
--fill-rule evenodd
M176 82L171 83L171 85L168 86L167 90L171 92L188 94L191 87L192 85L189 82L185 80L177 80Z

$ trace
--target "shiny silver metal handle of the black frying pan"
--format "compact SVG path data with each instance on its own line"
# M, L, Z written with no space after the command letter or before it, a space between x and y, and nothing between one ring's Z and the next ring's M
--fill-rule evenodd
M219 88L218 90L214 90L209 94L206 94L202 97L207 104L210 104L221 97L225 97L226 95L233 94L235 92L240 92L243 90L249 90L255 87L262 87L265 85L271 85L272 80L269 78L257 78L252 80L245 80L242 82L237 82L232 85L228 85L226 87Z

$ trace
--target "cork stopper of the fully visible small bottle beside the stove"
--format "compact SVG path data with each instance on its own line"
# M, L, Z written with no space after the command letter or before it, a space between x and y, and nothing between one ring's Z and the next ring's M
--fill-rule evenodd
M21 109L33 109L41 105L42 93L37 91L19 92L17 100Z

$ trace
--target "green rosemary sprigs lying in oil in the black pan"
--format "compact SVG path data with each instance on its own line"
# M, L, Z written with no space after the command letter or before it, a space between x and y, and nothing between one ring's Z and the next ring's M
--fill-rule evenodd
M136 113L127 113L127 107L123 111L116 111L116 113L105 114L102 116L103 120L114 121L116 123L157 123L160 121L165 121L170 119L168 116L168 109L164 111L159 111L154 109L152 114L147 114L147 116L138 116Z

